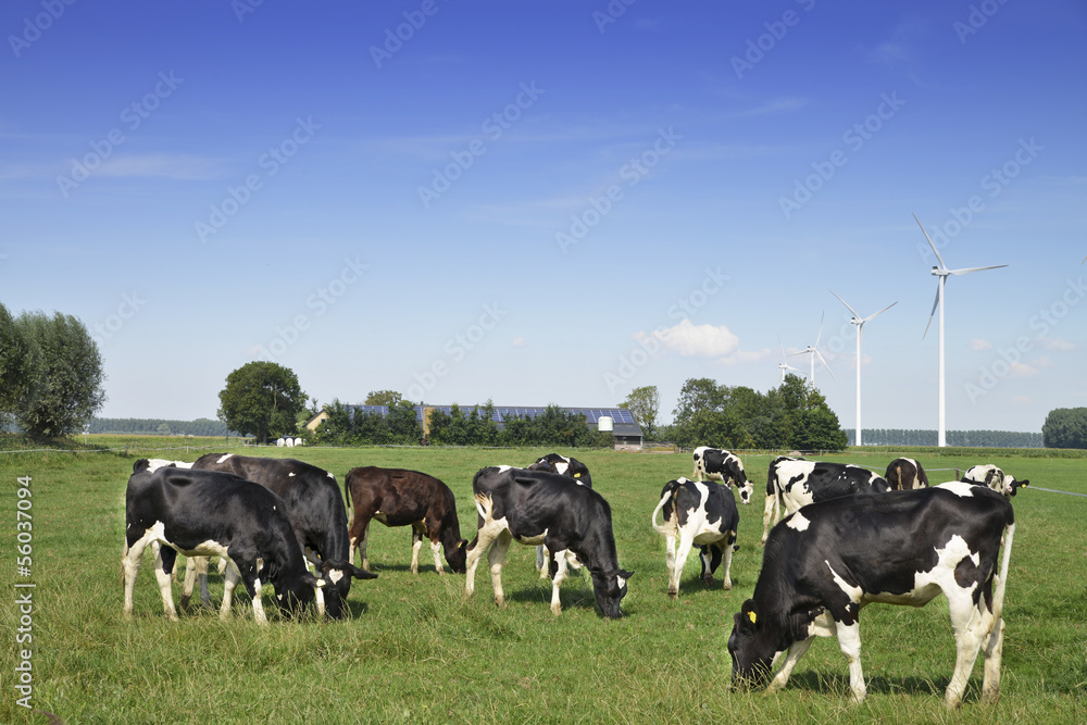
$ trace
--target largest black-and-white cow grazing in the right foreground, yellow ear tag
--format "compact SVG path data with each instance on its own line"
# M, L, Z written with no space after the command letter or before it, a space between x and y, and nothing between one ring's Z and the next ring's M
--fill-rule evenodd
M995 700L1014 532L1005 498L962 483L804 507L774 527L754 595L734 617L728 638L733 680L765 682L784 652L767 688L779 690L814 637L837 636L859 702L865 696L861 609L873 602L922 607L944 592L958 648L946 703L962 701L979 650L985 653L982 697Z

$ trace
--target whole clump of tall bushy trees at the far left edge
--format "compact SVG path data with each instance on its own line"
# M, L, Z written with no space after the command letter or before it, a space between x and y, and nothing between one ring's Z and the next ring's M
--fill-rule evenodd
M0 304L0 428L12 423L36 438L80 429L105 402L102 357L72 315Z

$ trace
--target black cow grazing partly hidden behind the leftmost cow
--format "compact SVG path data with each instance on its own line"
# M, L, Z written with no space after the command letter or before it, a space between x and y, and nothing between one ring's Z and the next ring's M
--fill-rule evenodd
M345 616L351 579L370 576L368 572L351 563L347 510L333 474L295 459L233 453L201 455L192 467L233 473L283 498L299 546L329 582L323 595L317 597L318 609L324 609L334 620Z

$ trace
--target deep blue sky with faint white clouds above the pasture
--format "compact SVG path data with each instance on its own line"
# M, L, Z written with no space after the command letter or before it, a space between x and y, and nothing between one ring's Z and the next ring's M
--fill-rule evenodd
M629 2L629 0L627 0ZM258 359L612 405L765 391L814 341L854 424L1087 404L1082 2L9 2L0 302L78 316L101 415L213 417ZM789 362L807 370L807 358Z

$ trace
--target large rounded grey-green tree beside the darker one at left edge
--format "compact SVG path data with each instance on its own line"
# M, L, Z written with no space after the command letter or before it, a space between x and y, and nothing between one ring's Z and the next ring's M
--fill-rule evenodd
M37 351L29 376L28 401L15 413L18 425L36 437L78 430L105 402L102 357L82 322L57 312L24 312L16 321Z

